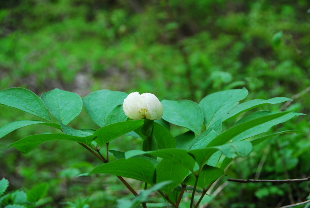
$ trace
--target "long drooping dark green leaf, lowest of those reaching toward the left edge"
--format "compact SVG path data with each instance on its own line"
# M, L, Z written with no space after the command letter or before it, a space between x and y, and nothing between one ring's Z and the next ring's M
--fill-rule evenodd
M72 136L68 134L60 134L60 133L48 133L48 134L39 134L39 135L31 135L27 136L15 143L12 143L10 146L14 146L16 149L23 153L29 153L32 151L36 146L43 143L44 141L50 140L69 140L69 141L76 141L79 143L90 143L97 136L91 135L87 137L79 137L79 136Z

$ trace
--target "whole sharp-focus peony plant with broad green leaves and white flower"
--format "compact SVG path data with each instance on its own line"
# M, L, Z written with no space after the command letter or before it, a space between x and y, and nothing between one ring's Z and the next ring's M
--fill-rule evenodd
M100 90L82 99L78 94L60 89L38 97L27 89L10 88L0 91L0 104L31 113L40 119L9 123L0 128L0 138L28 125L43 124L56 128L59 133L29 135L10 146L27 154L49 140L76 142L103 163L89 174L115 175L135 196L133 200L120 199L118 207L140 204L146 208L150 203L152 207L162 207L148 200L150 193L158 192L168 204L165 207L177 208L181 203L184 207L187 203L182 199L189 197L188 207L193 208L199 206L207 190L224 174L233 159L248 156L254 145L273 136L304 133L287 130L260 136L272 126L302 115L293 111L267 110L245 115L228 130L222 131L224 122L250 109L292 101L277 97L240 104L240 100L247 95L245 88L226 90L210 94L198 104L190 100L160 102L150 93L140 95L133 92L128 95ZM80 114L83 106L99 126L98 129L78 130L68 126ZM58 122L53 122L50 114ZM174 137L170 133L171 124L187 130ZM123 135L143 139L143 145L128 152L109 149L109 143ZM106 146L106 152L101 151L103 146ZM115 159L109 159L110 154ZM219 164L221 157L223 160ZM134 190L123 177L139 180L143 186Z

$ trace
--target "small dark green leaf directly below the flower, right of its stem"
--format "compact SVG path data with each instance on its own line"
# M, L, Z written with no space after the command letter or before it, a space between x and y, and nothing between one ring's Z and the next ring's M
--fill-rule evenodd
M159 123L154 123L153 136L157 140L158 149L175 148L177 145L170 131Z

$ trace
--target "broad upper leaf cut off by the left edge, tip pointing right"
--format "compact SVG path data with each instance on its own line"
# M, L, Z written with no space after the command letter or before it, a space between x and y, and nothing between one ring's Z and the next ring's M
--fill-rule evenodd
M51 122L44 102L27 89L10 88L0 91L0 104L20 109Z

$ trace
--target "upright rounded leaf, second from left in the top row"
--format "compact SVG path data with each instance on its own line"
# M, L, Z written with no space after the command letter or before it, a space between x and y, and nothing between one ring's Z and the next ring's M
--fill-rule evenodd
M51 114L63 125L69 124L82 111L81 97L73 92L54 89L41 95Z

